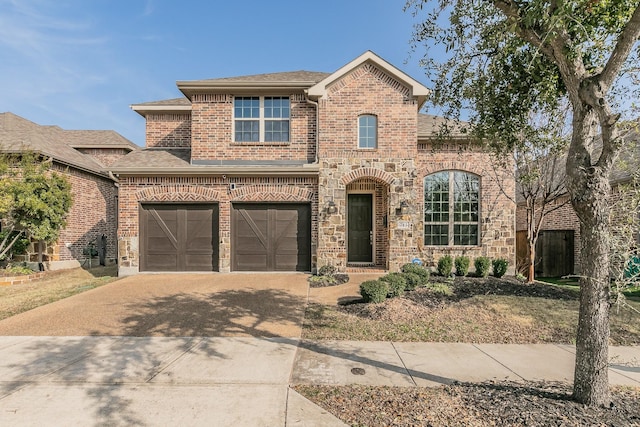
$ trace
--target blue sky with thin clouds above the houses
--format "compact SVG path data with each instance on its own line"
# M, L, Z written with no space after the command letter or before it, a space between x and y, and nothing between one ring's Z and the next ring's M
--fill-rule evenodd
M332 72L372 50L429 86L404 0L0 0L0 112L144 145L175 82Z

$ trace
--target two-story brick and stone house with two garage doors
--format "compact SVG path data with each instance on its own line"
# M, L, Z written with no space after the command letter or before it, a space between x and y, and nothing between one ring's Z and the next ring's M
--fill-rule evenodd
M515 204L490 156L455 126L439 139L445 122L418 113L429 90L374 53L177 86L132 106L146 148L111 166L120 274L514 263Z

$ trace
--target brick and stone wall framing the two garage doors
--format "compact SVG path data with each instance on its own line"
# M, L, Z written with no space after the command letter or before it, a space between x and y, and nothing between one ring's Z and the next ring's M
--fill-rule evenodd
M230 190L229 184L235 189ZM231 268L231 205L233 202L311 203L311 252L316 253L317 179L315 177L134 177L120 179L118 227L119 267L123 275L139 267L139 206L144 202L206 202L219 205L219 269ZM312 255L312 266L316 257Z

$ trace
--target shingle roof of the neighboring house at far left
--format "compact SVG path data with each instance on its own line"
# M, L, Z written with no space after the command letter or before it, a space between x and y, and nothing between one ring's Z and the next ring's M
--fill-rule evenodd
M71 133L69 133L71 132ZM0 152L19 153L33 151L45 156L53 157L58 162L86 171L106 175L103 166L91 156L82 154L73 148L70 139L87 141L95 147L103 137L122 147L133 149L126 138L112 131L66 131L58 126L41 126L13 113L0 113ZM126 141L126 142L125 142ZM133 144L135 146L135 144ZM83 145L87 147L87 145ZM137 147L137 146L135 146Z

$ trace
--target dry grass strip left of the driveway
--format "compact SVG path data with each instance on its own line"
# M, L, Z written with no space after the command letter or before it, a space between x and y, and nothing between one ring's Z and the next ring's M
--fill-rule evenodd
M48 272L31 283L0 287L0 320L116 280L116 266Z

